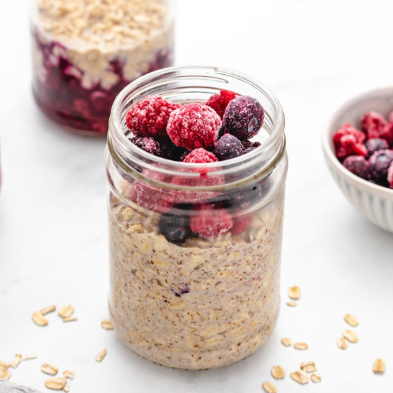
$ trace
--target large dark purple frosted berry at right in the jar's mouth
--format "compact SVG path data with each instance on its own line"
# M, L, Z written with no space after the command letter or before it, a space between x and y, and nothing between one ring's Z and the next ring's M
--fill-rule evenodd
M225 109L223 128L225 133L244 141L258 133L264 117L265 112L258 100L251 96L236 97Z

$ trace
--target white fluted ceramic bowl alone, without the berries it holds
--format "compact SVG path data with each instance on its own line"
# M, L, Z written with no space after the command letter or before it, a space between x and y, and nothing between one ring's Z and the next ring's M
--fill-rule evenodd
M330 172L348 201L368 220L389 232L393 232L393 189L377 186L347 170L335 156L332 138L345 123L359 128L366 112L376 111L387 117L392 109L393 87L357 96L337 111L322 141Z

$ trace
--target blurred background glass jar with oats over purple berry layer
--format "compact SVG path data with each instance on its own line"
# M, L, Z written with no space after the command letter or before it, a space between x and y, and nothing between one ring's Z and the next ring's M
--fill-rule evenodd
M175 0L31 0L33 93L52 120L105 134L131 81L173 64Z

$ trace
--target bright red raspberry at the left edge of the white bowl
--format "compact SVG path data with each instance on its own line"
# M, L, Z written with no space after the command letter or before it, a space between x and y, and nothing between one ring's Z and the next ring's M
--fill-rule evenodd
M366 135L352 127L350 124L344 124L333 135L333 144L338 159L344 159L348 155L357 154L366 157L367 149L363 142Z

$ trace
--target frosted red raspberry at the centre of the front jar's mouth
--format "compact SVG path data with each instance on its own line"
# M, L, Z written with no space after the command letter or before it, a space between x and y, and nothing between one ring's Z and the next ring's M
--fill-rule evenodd
M192 102L170 114L167 131L175 145L194 150L213 147L220 127L221 119L214 109Z

